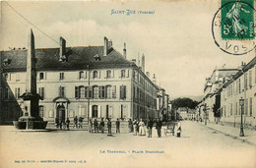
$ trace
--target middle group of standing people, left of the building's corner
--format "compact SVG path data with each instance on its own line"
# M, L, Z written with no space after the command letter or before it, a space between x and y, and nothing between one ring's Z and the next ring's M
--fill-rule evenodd
M107 133L112 134L112 123L111 119L107 118L106 119L106 126L107 126ZM120 121L119 119L116 120L115 122L115 128L116 128L116 134L120 133ZM104 134L104 129L105 129L105 123L104 123L104 118L101 118L101 121L97 123L97 119L93 121L92 119L89 120L89 132L90 133L99 133Z

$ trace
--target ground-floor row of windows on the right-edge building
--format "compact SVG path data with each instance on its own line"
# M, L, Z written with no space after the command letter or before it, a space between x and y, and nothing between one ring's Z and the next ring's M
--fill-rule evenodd
M240 106L239 102L237 101L236 103L230 103L228 104L228 114L230 116L232 115L241 115L241 109L243 111L243 114L246 116L252 116L252 97L250 98L245 98L244 100L244 106ZM227 109L226 106L222 107L222 116L229 116L226 114Z

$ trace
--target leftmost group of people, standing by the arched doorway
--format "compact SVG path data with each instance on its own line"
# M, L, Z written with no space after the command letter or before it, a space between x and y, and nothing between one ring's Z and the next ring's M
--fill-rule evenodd
M83 129L83 120L84 118L83 117L74 117L74 126L73 126L73 129ZM60 129L60 130L69 130L69 125L70 125L70 120L69 118L67 118L67 120L59 120L58 117L55 118L55 125L56 125L56 128L57 129Z

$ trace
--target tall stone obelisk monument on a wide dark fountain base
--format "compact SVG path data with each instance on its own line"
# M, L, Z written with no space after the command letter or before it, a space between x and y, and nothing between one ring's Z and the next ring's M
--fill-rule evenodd
M47 125L47 122L43 121L38 112L39 99L42 98L36 93L35 63L34 36L31 29L27 57L26 92L20 96L24 100L25 111L23 112L23 116L19 118L18 121L13 122L17 129L45 129Z

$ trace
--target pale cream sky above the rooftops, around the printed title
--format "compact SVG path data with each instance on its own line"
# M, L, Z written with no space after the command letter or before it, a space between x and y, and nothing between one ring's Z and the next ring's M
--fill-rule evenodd
M27 47L31 28L35 48L59 47L60 36L67 46L98 46L106 36L120 53L126 42L128 60L144 53L146 72L151 77L156 74L157 84L172 97L202 95L206 78L216 68L224 64L237 68L255 56L254 51L230 55L215 44L212 21L220 7L218 1L8 3L32 24L1 2L0 50ZM111 15L112 10L135 10L136 14Z

